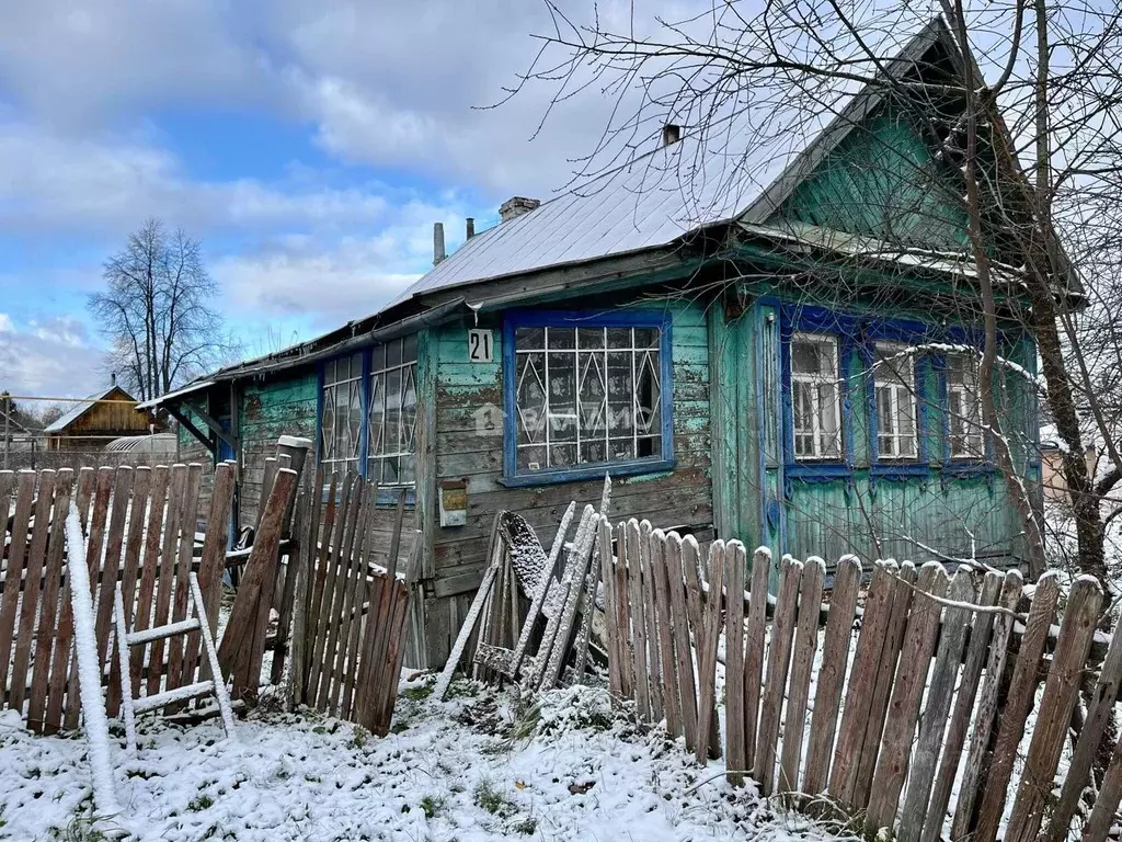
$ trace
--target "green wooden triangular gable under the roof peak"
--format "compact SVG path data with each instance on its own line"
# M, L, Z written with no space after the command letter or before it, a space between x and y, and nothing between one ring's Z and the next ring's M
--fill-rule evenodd
M969 244L955 170L938 161L908 116L884 107L854 127L770 222L803 222L909 248Z

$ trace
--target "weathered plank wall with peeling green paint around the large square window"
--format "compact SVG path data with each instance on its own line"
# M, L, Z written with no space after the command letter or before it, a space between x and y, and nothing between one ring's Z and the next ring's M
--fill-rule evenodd
M619 302L579 301L571 306L597 310ZM625 477L614 482L611 520L647 518L662 527L683 525L711 534L712 477L710 469L709 354L705 309L681 300L634 302L632 308L669 309L672 314L673 364L672 472ZM553 305L563 309L563 305ZM518 512L539 530L543 543L572 500L578 505L598 503L603 479L507 488L503 477L502 318L480 318L478 327L494 331L495 361L468 361L466 320L433 331L436 354L436 482L467 479L468 523L434 528L434 562L438 604L430 608L429 649L448 651L451 640L479 583L486 560L487 539L495 512ZM489 428L480 419L495 421ZM434 522L439 518L434 513Z

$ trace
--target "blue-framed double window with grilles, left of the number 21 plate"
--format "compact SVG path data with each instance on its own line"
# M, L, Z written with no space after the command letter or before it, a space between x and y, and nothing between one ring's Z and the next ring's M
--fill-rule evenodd
M414 483L416 358L416 337L407 336L323 366L327 469L353 470L381 486Z

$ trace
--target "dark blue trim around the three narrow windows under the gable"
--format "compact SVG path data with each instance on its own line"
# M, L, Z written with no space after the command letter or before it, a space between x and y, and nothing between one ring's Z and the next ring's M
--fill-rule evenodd
M946 354L929 351L916 360L916 397L918 404L916 459L881 459L876 448L875 378L864 377L864 395L854 378L846 374L848 360L856 355L864 375L872 372L875 344L901 342L926 345L947 342L977 346L981 332L962 326L934 326L913 319L884 319L836 313L812 304L782 302L772 298L762 304L778 306L780 312L780 381L782 384L783 461L785 479L803 482L846 481L852 483L857 469L854 452L855 430L853 400L864 400L867 412L868 473L873 479L903 481L913 477L992 477L994 473L992 442L986 439L984 459L950 458L949 402L946 385ZM794 333L833 336L838 340L838 379L842 383L842 458L837 460L803 460L794 457L794 412L791 399L791 339ZM929 381L935 375L936 394L930 394ZM937 412L939 423L930 413ZM931 431L937 430L937 441Z

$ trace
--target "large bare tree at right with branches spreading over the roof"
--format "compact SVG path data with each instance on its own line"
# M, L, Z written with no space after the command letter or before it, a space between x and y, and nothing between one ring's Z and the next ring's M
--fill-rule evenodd
M936 70L901 58L909 34L932 19L911 0L721 0L680 20L644 20L632 8L588 21L546 0L552 30L511 95L552 86L549 110L582 90L613 98L578 179L634 161L663 125L682 126L697 152L680 163L680 182L698 208L738 184L762 186L830 120L861 130L867 110L848 110L858 90L893 103L938 161L892 166L912 166L965 220L965 241L928 256L957 263L955 306L984 327L975 423L1020 513L1030 574L1046 566L1045 527L1024 483L1034 442L1002 429L1001 404L1013 400L1003 385L1011 324L1039 354L1042 382L1030 386L1061 441L1075 566L1111 589L1103 502L1122 482L1122 10L1092 0L940 3L954 49ZM953 177L931 177L936 165ZM921 199L903 201L911 204L883 209L880 236L861 241L859 256L838 264L867 265L876 250L914 263L929 244L907 220L947 220ZM1097 477L1084 459L1088 440L1102 442L1110 466Z

